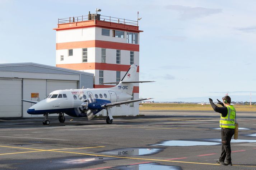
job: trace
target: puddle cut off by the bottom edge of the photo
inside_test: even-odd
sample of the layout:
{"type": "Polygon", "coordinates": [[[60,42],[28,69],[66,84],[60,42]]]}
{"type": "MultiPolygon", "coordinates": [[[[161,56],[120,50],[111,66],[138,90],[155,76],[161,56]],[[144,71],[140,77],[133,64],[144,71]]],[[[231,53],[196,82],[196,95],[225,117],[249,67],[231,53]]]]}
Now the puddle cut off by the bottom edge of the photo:
{"type": "Polygon", "coordinates": [[[167,166],[167,165],[160,165],[157,163],[117,166],[114,168],[120,169],[120,170],[134,170],[134,169],[136,169],[136,170],[148,170],[148,169],[182,170],[180,166],[167,166]]]}

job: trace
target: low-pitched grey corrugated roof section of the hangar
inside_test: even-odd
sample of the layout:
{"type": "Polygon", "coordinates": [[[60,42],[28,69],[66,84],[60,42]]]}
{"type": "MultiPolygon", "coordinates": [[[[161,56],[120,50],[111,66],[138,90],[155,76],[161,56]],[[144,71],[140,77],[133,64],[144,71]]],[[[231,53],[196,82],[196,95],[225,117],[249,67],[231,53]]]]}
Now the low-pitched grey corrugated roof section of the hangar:
{"type": "Polygon", "coordinates": [[[71,75],[84,74],[89,76],[94,75],[89,72],[64,69],[64,68],[55,67],[55,66],[37,64],[33,62],[0,64],[0,71],[34,72],[34,73],[48,73],[48,74],[71,74],[71,75]]]}

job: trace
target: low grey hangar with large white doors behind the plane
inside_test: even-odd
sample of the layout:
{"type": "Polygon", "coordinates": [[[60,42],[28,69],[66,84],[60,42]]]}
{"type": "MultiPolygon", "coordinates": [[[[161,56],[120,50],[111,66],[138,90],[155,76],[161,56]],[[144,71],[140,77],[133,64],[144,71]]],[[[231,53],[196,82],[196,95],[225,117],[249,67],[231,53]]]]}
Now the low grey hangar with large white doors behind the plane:
{"type": "MultiPolygon", "coordinates": [[[[60,89],[93,88],[94,74],[36,63],[0,64],[0,117],[31,117],[27,109],[60,89]]],[[[42,115],[39,115],[42,116],[42,115]]]]}

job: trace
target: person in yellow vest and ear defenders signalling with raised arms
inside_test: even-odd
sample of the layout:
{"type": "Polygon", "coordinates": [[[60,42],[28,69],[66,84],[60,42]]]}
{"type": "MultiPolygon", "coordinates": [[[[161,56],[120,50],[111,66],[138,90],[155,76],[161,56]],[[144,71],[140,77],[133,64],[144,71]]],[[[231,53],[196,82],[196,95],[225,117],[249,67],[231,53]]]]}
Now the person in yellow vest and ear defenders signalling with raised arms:
{"type": "Polygon", "coordinates": [[[232,166],[230,141],[235,132],[236,109],[231,105],[231,98],[228,95],[222,97],[222,100],[223,102],[218,100],[218,104],[223,107],[218,107],[213,103],[213,100],[209,98],[213,110],[221,113],[219,122],[221,127],[222,152],[216,163],[232,166]]]}

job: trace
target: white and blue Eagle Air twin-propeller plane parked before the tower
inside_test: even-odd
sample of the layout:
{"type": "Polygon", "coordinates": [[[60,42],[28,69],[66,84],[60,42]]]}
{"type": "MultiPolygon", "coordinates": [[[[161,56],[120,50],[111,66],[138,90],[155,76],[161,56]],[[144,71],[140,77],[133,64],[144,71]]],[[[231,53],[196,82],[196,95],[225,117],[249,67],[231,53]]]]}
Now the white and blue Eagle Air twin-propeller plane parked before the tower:
{"type": "MultiPolygon", "coordinates": [[[[50,124],[47,120],[48,114],[59,114],[59,121],[65,122],[64,113],[72,117],[87,117],[88,120],[92,119],[93,115],[99,111],[107,110],[107,124],[113,121],[111,107],[128,104],[131,102],[147,100],[137,99],[129,100],[132,98],[132,90],[136,82],[150,82],[150,81],[135,81],[138,65],[131,65],[130,69],[126,72],[125,76],[115,87],[99,88],[99,89],[70,89],[70,90],[56,90],[51,92],[46,99],[42,101],[22,100],[34,103],[27,112],[31,115],[45,116],[43,121],[44,125],[50,124]]],[[[107,84],[107,83],[106,83],[107,84]]]]}

